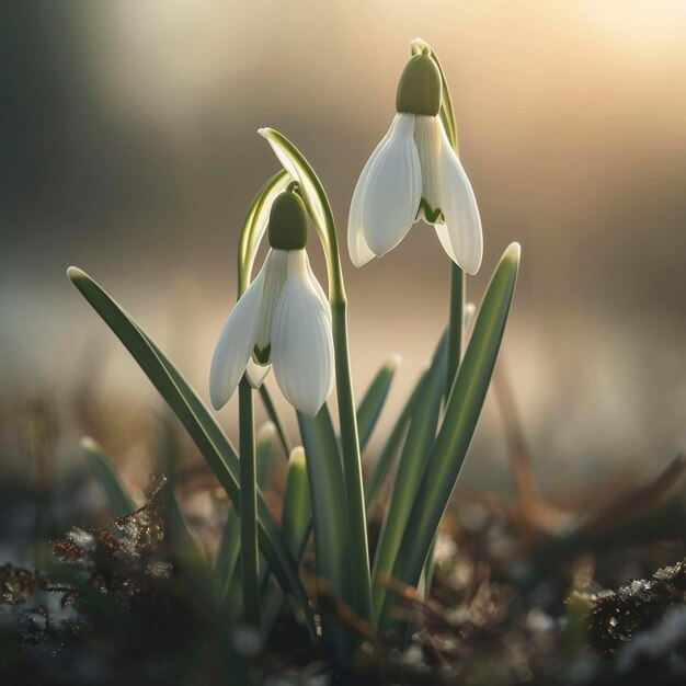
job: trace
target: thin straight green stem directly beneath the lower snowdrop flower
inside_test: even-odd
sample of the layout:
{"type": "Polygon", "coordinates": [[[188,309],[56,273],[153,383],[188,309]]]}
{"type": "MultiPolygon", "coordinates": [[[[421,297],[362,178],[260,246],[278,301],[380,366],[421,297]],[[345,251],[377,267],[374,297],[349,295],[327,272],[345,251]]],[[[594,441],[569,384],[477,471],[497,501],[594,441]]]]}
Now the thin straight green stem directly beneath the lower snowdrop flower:
{"type": "Polygon", "coordinates": [[[241,576],[245,624],[260,628],[258,579],[258,484],[255,477],[255,424],[252,388],[243,377],[238,387],[240,422],[241,576]]]}

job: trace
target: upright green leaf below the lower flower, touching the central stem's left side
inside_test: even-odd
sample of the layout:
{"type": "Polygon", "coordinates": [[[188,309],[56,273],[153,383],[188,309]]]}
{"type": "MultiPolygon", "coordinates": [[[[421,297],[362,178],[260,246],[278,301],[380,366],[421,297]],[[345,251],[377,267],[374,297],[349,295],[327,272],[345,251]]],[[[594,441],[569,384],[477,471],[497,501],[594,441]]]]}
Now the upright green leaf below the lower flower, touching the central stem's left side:
{"type": "MultiPolygon", "coordinates": [[[[316,416],[298,412],[298,425],[305,446],[310,495],[317,578],[330,585],[331,593],[350,604],[351,561],[347,553],[347,512],[343,492],[343,470],[327,403],[316,416]]],[[[345,644],[342,627],[324,621],[324,640],[339,649],[345,644]]]]}

